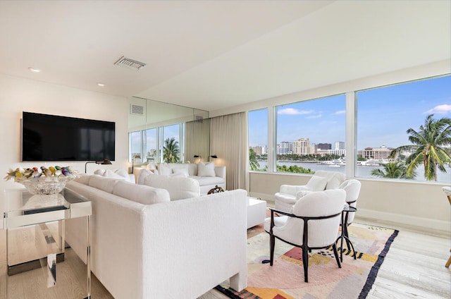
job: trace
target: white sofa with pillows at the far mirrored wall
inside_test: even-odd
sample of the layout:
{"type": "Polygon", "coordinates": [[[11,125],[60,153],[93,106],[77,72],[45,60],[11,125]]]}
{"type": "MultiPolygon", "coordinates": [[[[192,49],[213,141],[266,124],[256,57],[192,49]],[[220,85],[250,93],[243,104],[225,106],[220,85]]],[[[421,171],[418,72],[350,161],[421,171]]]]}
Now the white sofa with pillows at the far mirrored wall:
{"type": "Polygon", "coordinates": [[[148,164],[146,167],[137,167],[135,179],[139,176],[141,169],[149,169],[154,174],[161,176],[187,176],[199,182],[200,194],[206,194],[210,189],[222,187],[226,188],[226,166],[215,166],[214,162],[199,162],[199,164],[190,163],[158,163],[148,164]]]}

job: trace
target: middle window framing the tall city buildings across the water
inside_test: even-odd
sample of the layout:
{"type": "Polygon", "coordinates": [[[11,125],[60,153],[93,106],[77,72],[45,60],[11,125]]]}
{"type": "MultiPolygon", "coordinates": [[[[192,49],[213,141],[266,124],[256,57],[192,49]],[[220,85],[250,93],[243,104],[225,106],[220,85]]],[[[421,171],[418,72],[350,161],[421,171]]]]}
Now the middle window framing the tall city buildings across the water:
{"type": "Polygon", "coordinates": [[[344,173],[345,102],[345,94],[339,94],[277,106],[276,171],[344,173]]]}

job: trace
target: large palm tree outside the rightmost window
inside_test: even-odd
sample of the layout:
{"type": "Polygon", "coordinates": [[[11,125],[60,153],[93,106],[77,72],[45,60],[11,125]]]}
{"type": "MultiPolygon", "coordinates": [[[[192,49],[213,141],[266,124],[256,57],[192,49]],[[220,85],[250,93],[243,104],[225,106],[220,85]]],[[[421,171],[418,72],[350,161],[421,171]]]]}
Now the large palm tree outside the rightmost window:
{"type": "Polygon", "coordinates": [[[412,128],[406,132],[412,145],[397,147],[390,157],[405,150],[414,151],[406,159],[407,174],[412,176],[416,167],[423,164],[424,178],[437,181],[437,169],[446,172],[445,164],[451,162],[451,150],[444,147],[451,145],[451,118],[435,120],[431,114],[426,117],[418,132],[412,128]]]}

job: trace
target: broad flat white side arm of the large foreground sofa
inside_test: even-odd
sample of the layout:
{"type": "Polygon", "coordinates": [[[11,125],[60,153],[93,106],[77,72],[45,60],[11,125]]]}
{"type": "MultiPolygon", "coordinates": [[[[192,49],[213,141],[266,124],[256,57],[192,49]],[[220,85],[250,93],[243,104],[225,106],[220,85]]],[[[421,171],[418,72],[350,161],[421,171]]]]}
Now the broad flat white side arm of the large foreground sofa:
{"type": "Polygon", "coordinates": [[[143,298],[198,298],[228,278],[235,291],[245,288],[246,195],[232,190],[146,207],[143,298]]]}

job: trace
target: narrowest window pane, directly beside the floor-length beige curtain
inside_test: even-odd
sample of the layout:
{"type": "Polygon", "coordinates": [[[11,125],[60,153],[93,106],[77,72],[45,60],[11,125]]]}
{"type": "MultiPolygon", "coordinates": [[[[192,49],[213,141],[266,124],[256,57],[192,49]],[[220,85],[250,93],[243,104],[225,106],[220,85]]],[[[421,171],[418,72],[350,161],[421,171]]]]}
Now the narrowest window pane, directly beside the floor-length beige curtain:
{"type": "Polygon", "coordinates": [[[268,109],[249,111],[249,169],[268,170],[268,109]]]}

